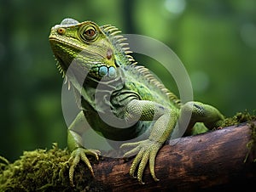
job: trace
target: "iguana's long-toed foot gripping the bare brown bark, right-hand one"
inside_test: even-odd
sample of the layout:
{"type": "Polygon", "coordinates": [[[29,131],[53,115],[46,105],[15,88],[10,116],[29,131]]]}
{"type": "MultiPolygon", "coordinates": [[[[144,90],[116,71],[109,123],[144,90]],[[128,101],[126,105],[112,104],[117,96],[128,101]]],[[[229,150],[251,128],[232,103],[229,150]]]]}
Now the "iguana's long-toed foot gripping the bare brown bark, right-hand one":
{"type": "Polygon", "coordinates": [[[137,178],[140,184],[145,184],[143,183],[143,172],[148,161],[149,171],[152,178],[154,178],[154,181],[159,181],[159,179],[156,178],[154,173],[154,161],[155,156],[157,155],[157,152],[160,150],[161,145],[162,144],[158,142],[147,139],[136,143],[122,144],[120,146],[121,149],[133,148],[132,150],[129,150],[128,152],[125,153],[124,158],[137,154],[137,156],[135,157],[134,161],[131,164],[129,173],[133,178],[137,178]],[[137,177],[134,176],[134,172],[136,172],[136,170],[137,177]]]}

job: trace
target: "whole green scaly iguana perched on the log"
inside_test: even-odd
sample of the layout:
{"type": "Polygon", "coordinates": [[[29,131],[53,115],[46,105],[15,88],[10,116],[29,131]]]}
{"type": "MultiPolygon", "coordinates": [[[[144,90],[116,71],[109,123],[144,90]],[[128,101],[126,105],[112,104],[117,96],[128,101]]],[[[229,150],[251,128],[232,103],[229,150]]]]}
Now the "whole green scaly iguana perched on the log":
{"type": "Polygon", "coordinates": [[[117,141],[137,138],[149,129],[148,138],[119,146],[122,150],[131,149],[125,157],[136,155],[130,175],[135,177],[137,171],[137,180],[144,184],[143,172],[148,162],[152,177],[155,181],[159,180],[154,173],[155,157],[172,135],[174,127],[179,127],[189,113],[188,134],[196,122],[212,129],[224,120],[224,116],[211,105],[194,101],[182,104],[145,67],[136,65],[129,55],[131,52],[122,42],[125,39],[118,33],[112,25],[98,26],[91,21],[79,23],[73,19],[62,20],[50,31],[49,42],[57,65],[63,76],[67,75],[68,85],[78,95],[81,109],[68,127],[67,145],[72,151],[69,178],[72,185],[74,168],[79,161],[84,161],[93,175],[87,155],[94,155],[98,160],[98,150],[83,146],[82,135],[88,127],[105,138],[117,141]],[[74,59],[76,67],[71,71],[75,77],[67,74],[74,59]],[[85,79],[81,82],[81,78],[85,79]],[[120,122],[125,128],[102,121],[101,117],[109,116],[109,113],[123,120],[120,122]]]}

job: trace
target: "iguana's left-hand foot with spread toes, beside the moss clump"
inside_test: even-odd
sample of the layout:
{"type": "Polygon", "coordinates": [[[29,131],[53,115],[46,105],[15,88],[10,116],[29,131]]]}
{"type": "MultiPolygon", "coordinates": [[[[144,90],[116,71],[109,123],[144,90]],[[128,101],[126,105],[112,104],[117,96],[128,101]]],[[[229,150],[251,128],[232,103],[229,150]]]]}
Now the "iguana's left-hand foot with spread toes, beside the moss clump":
{"type": "Polygon", "coordinates": [[[74,173],[75,167],[77,167],[80,160],[84,161],[84,163],[90,170],[90,174],[94,177],[93,169],[92,169],[92,167],[90,165],[90,161],[86,155],[93,155],[96,158],[96,161],[98,161],[99,160],[98,155],[100,155],[100,151],[99,150],[87,150],[87,149],[79,147],[79,148],[73,150],[73,152],[70,155],[70,158],[68,160],[68,162],[71,165],[71,167],[69,168],[69,180],[70,180],[70,184],[72,186],[74,186],[73,173],[74,173]]]}

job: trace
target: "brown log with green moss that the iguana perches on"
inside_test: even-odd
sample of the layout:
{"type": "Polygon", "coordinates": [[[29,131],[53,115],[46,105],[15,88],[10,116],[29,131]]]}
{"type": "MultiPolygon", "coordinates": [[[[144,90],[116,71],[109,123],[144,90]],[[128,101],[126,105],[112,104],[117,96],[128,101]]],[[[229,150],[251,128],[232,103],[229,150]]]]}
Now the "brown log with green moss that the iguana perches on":
{"type": "Polygon", "coordinates": [[[93,164],[95,178],[83,162],[79,163],[73,179],[76,187],[72,188],[68,177],[69,152],[58,149],[56,144],[51,150],[25,151],[12,164],[1,157],[0,191],[244,190],[256,182],[255,124],[173,139],[156,158],[155,172],[160,181],[154,182],[146,167],[145,185],[129,176],[132,161],[102,157],[93,164]]]}

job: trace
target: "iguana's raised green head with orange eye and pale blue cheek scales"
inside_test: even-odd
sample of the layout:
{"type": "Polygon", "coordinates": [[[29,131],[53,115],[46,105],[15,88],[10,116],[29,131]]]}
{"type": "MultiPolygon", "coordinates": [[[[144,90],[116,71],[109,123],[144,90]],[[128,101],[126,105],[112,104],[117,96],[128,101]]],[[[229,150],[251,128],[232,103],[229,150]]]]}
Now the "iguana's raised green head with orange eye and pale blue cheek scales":
{"type": "Polygon", "coordinates": [[[113,44],[106,31],[96,23],[64,19],[51,28],[49,42],[63,76],[74,60],[79,68],[77,71],[84,71],[93,78],[116,76],[113,44]]]}

